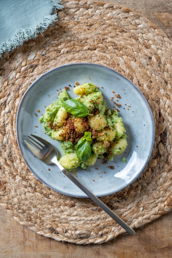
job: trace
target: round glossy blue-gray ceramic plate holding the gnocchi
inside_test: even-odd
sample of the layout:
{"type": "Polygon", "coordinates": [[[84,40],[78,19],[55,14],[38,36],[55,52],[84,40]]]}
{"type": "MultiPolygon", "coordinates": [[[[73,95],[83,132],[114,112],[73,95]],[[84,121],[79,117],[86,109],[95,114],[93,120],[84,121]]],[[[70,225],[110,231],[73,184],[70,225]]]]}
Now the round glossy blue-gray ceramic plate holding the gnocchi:
{"type": "Polygon", "coordinates": [[[140,175],[150,158],[154,143],[154,121],[146,99],[132,82],[113,69],[93,63],[68,64],[48,71],[32,83],[17,112],[16,128],[20,152],[30,171],[43,184],[65,195],[87,197],[60,173],[56,165],[47,165],[38,160],[24,143],[27,135],[37,134],[52,143],[60,155],[63,155],[60,142],[44,134],[39,117],[44,114],[46,106],[58,97],[59,88],[71,85],[68,94],[71,98],[76,97],[73,93],[76,81],[80,84],[93,82],[100,87],[106,104],[111,109],[115,106],[113,101],[116,102],[116,97],[110,100],[114,96],[112,91],[121,97],[118,99],[120,106],[115,107],[120,110],[119,116],[123,118],[128,135],[128,148],[108,164],[103,164],[103,160],[98,159],[95,165],[88,167],[86,171],[80,167],[76,169],[77,179],[96,196],[110,195],[128,186],[140,175]],[[40,110],[39,113],[37,109],[40,110]],[[123,157],[126,158],[126,163],[122,161],[123,157]],[[114,169],[110,166],[114,166],[114,169]]]}

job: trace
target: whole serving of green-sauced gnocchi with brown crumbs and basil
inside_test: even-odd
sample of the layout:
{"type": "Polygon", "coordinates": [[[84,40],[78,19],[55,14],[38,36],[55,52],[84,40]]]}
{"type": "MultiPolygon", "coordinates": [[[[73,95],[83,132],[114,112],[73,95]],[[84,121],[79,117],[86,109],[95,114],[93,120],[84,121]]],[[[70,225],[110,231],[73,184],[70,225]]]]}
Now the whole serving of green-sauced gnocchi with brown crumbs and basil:
{"type": "Polygon", "coordinates": [[[127,148],[122,117],[106,106],[98,87],[84,83],[73,91],[77,97],[70,99],[63,89],[39,118],[45,133],[62,142],[59,163],[70,171],[78,166],[86,169],[97,158],[113,160],[127,148]]]}

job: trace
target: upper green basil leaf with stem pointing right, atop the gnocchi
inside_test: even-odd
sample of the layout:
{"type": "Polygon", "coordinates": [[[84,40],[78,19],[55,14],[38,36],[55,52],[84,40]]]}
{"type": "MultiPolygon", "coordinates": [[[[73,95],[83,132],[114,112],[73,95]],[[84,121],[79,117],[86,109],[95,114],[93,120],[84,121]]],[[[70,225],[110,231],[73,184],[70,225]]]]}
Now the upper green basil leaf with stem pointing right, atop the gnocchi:
{"type": "Polygon", "coordinates": [[[93,116],[89,114],[87,107],[76,99],[68,99],[62,103],[64,109],[66,111],[76,117],[86,117],[87,115],[93,116]]]}

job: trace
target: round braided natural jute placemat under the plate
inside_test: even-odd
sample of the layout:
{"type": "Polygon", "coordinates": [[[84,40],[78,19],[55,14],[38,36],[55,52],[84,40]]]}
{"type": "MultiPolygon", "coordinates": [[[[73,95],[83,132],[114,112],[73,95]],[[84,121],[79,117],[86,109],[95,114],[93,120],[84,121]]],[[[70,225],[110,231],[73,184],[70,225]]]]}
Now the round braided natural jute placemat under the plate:
{"type": "Polygon", "coordinates": [[[141,227],[172,208],[172,43],[146,17],[114,4],[65,2],[58,17],[43,35],[1,60],[0,203],[38,234],[77,244],[103,243],[125,231],[90,199],[59,194],[28,170],[16,140],[17,107],[35,79],[66,63],[100,63],[130,79],[152,110],[155,144],[139,178],[101,200],[132,228],[141,227]]]}

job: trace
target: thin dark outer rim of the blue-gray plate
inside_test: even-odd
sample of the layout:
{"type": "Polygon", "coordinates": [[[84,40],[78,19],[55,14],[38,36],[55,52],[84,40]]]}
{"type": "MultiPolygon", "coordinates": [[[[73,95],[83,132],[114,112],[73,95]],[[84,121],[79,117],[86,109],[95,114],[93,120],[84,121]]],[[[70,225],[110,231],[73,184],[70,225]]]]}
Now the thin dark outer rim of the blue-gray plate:
{"type": "MultiPolygon", "coordinates": [[[[155,141],[155,124],[154,124],[154,118],[153,118],[153,114],[152,114],[152,111],[150,109],[150,106],[148,104],[148,102],[146,101],[146,98],[144,97],[143,93],[138,89],[138,87],[132,82],[130,81],[127,77],[125,77],[123,74],[121,74],[120,72],[114,70],[113,68],[110,68],[108,66],[104,66],[104,65],[101,65],[101,64],[97,64],[97,63],[87,63],[87,62],[81,62],[81,63],[69,63],[69,64],[64,64],[64,65],[61,65],[61,66],[57,66],[53,69],[50,69],[49,71],[45,72],[44,74],[42,74],[41,76],[39,76],[34,82],[31,83],[31,85],[28,87],[28,89],[25,91],[25,93],[23,94],[21,100],[20,100],[20,103],[19,103],[19,106],[18,106],[18,109],[17,109],[17,114],[16,114],[16,136],[17,136],[17,144],[18,144],[18,147],[19,147],[19,150],[20,150],[20,154],[24,160],[24,162],[26,163],[27,167],[29,168],[29,170],[34,174],[34,176],[36,176],[36,178],[42,182],[43,184],[45,184],[47,187],[49,187],[50,189],[54,190],[55,192],[59,192],[60,194],[64,194],[66,196],[70,196],[70,197],[74,197],[74,198],[88,198],[87,195],[84,195],[84,196],[77,196],[77,195],[72,195],[72,194],[66,194],[62,191],[57,191],[56,189],[54,189],[53,187],[50,187],[49,184],[47,184],[46,182],[44,182],[44,180],[40,179],[35,173],[34,171],[32,171],[30,165],[28,164],[28,162],[26,161],[24,155],[23,155],[23,151],[22,151],[22,148],[21,148],[21,145],[20,145],[20,140],[19,140],[19,134],[18,134],[18,119],[19,119],[19,114],[20,114],[20,109],[21,109],[21,105],[23,103],[23,100],[25,99],[28,91],[36,84],[37,81],[39,81],[40,79],[42,79],[44,76],[46,76],[47,74],[55,71],[55,70],[58,70],[60,68],[63,68],[63,67],[66,67],[66,66],[79,66],[79,65],[92,65],[92,66],[100,66],[100,67],[103,67],[104,69],[108,69],[112,72],[114,72],[115,74],[118,74],[120,75],[123,79],[127,80],[135,89],[136,91],[141,95],[144,103],[146,103],[146,106],[149,110],[149,114],[150,114],[150,117],[151,117],[151,122],[152,122],[152,127],[153,127],[153,132],[152,132],[152,146],[151,146],[151,149],[150,149],[150,152],[149,152],[149,155],[143,165],[143,167],[141,168],[141,170],[139,171],[139,173],[132,179],[129,181],[128,184],[125,185],[125,187],[129,186],[130,184],[132,184],[137,178],[138,176],[143,172],[144,168],[146,167],[147,163],[149,162],[149,159],[152,155],[152,150],[153,150],[153,146],[154,146],[154,141],[155,141]]],[[[117,191],[113,191],[113,192],[110,192],[110,193],[107,193],[106,195],[96,195],[97,197],[102,197],[102,196],[107,196],[107,195],[112,195],[116,192],[119,192],[121,191],[122,189],[124,189],[125,187],[122,187],[121,189],[117,190],[117,191]]]]}

